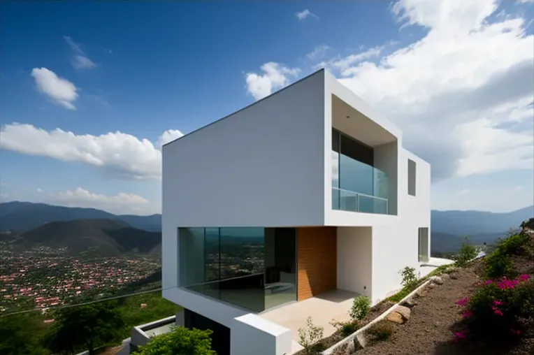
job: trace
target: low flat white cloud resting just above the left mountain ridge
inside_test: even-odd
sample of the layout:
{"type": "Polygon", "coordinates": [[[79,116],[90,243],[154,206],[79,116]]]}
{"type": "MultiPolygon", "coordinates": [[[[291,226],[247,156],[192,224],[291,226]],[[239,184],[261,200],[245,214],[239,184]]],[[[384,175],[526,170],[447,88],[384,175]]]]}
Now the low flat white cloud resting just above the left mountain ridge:
{"type": "Polygon", "coordinates": [[[146,198],[136,194],[120,192],[115,196],[95,194],[78,187],[73,190],[52,192],[43,196],[40,202],[66,207],[97,208],[117,214],[143,214],[150,215],[159,212],[146,198]]]}

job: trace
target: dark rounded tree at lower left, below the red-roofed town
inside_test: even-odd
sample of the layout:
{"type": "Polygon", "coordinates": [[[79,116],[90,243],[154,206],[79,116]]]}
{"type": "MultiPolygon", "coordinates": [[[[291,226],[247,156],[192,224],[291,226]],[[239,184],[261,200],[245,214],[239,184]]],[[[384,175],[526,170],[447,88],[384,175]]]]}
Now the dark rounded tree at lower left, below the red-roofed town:
{"type": "Polygon", "coordinates": [[[62,308],[54,312],[55,322],[48,335],[48,348],[59,354],[94,349],[115,340],[124,326],[115,301],[62,308]]]}

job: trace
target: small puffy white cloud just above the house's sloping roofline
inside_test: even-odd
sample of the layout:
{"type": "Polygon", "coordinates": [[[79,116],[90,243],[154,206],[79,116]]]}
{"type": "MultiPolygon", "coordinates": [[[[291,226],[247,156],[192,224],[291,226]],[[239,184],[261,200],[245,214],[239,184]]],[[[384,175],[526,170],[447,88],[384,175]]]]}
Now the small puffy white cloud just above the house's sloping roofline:
{"type": "Polygon", "coordinates": [[[290,77],[296,77],[300,73],[299,68],[289,68],[282,64],[269,61],[261,66],[264,74],[247,73],[247,91],[254,99],[263,99],[277,89],[289,84],[290,77]]]}

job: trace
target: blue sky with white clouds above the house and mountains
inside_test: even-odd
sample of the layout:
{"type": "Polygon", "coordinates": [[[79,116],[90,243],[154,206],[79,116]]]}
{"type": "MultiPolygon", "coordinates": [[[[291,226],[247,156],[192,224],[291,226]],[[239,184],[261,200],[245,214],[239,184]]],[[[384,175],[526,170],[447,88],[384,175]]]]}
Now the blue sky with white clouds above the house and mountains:
{"type": "Polygon", "coordinates": [[[432,164],[433,208],[531,205],[533,2],[444,2],[2,2],[1,201],[159,212],[162,141],[324,67],[432,164]]]}

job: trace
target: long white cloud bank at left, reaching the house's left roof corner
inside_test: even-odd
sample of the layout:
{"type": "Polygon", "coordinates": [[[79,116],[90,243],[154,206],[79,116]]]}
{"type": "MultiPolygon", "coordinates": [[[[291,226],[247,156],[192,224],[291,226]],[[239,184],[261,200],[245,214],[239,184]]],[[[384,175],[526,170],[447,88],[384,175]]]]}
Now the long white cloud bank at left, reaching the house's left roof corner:
{"type": "MultiPolygon", "coordinates": [[[[111,178],[157,180],[161,178],[161,151],[150,140],[117,131],[92,136],[31,124],[6,124],[0,131],[0,147],[22,154],[73,161],[101,169],[111,178]]],[[[177,130],[164,132],[157,144],[178,138],[177,130]]]]}

